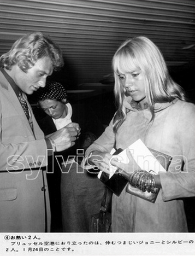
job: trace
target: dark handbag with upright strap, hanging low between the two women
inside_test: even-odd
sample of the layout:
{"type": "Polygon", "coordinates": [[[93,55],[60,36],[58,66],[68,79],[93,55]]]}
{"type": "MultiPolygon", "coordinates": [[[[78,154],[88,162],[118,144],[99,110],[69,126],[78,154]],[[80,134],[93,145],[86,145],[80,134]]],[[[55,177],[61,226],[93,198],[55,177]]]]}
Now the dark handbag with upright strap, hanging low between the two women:
{"type": "Polygon", "coordinates": [[[111,197],[112,191],[105,187],[99,213],[91,216],[90,232],[111,232],[111,197]],[[110,211],[109,211],[110,210],[110,211]]]}

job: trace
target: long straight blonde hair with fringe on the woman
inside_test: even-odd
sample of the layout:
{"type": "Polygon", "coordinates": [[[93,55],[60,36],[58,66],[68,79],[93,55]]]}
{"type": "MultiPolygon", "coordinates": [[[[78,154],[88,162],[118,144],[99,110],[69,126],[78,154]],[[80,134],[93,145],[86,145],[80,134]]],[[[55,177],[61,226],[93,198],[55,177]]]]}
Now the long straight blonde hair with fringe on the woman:
{"type": "Polygon", "coordinates": [[[140,69],[145,78],[145,94],[149,109],[155,118],[155,103],[171,102],[175,98],[187,101],[184,90],[170,77],[164,57],[158,47],[147,37],[134,37],[126,40],[113,57],[115,77],[115,101],[117,111],[114,116],[114,132],[126,118],[123,100],[127,96],[119,74],[140,69]]]}

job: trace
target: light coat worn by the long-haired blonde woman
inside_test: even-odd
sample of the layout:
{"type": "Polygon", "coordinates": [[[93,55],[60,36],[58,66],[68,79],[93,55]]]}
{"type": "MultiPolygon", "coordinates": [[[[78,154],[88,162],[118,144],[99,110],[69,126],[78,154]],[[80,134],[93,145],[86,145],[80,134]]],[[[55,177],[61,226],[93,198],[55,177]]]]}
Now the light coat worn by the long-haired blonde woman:
{"type": "MultiPolygon", "coordinates": [[[[167,173],[161,173],[162,189],[155,203],[140,199],[124,189],[119,197],[113,195],[113,232],[187,232],[182,197],[195,195],[194,174],[194,104],[175,100],[157,103],[155,119],[150,122],[148,108],[138,110],[127,97],[129,109],[126,120],[116,134],[116,148],[125,149],[137,139],[149,148],[174,156],[167,173]],[[184,163],[181,171],[181,162],[184,163]]],[[[110,152],[114,146],[113,120],[97,141],[87,149],[110,152]]]]}

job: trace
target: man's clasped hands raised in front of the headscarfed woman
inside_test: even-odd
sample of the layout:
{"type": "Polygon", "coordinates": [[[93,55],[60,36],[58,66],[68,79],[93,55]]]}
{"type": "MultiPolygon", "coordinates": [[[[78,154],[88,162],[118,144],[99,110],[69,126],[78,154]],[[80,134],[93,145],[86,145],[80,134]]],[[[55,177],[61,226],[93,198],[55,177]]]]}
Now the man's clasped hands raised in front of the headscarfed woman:
{"type": "Polygon", "coordinates": [[[75,140],[80,135],[80,126],[76,123],[70,123],[67,126],[52,133],[48,138],[55,148],[56,152],[66,150],[75,144],[75,140]]]}

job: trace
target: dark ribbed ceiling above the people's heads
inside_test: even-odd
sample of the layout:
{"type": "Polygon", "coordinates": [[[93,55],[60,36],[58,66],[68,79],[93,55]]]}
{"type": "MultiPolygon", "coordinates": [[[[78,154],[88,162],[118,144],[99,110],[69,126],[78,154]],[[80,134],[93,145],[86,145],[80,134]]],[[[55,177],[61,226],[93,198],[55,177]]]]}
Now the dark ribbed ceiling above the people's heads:
{"type": "Polygon", "coordinates": [[[194,63],[194,0],[0,0],[0,54],[23,33],[42,31],[61,46],[77,83],[97,83],[128,37],[144,35],[168,65],[194,63]]]}

